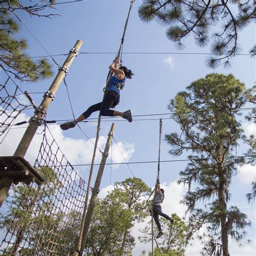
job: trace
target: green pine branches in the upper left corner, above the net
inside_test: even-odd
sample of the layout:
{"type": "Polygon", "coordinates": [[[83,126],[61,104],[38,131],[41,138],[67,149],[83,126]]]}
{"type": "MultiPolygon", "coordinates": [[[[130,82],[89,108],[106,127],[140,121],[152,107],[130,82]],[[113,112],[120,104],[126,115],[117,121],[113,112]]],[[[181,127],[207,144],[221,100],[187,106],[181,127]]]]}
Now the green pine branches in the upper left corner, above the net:
{"type": "Polygon", "coordinates": [[[41,7],[37,5],[31,6],[30,3],[29,6],[24,6],[19,0],[0,2],[0,67],[22,81],[36,82],[52,76],[52,68],[47,60],[45,58],[32,60],[25,53],[28,50],[26,40],[17,37],[22,24],[15,16],[16,10],[24,10],[31,16],[53,16],[41,15],[45,8],[49,8],[48,5],[41,5],[41,7]]]}

